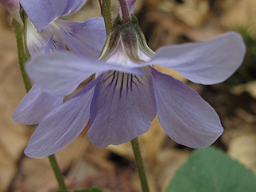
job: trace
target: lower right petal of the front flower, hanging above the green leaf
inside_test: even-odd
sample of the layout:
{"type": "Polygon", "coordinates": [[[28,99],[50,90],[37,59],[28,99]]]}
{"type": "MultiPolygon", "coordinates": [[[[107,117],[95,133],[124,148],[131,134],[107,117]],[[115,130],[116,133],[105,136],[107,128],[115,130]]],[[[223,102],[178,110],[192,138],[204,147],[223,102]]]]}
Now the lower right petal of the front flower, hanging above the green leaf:
{"type": "Polygon", "coordinates": [[[223,132],[215,110],[195,90],[152,69],[157,114],[165,132],[189,148],[204,148],[223,132]]]}

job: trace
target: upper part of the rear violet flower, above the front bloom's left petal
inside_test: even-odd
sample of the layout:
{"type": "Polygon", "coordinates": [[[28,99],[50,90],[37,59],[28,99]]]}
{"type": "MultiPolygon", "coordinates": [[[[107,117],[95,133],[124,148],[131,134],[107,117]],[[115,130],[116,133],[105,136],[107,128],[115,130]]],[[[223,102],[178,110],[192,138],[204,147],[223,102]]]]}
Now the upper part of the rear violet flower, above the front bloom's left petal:
{"type": "Polygon", "coordinates": [[[93,59],[99,57],[106,40],[102,17],[91,18],[83,23],[59,19],[76,13],[87,0],[20,2],[29,16],[26,21],[26,40],[32,56],[66,50],[66,45],[78,55],[93,59]]]}

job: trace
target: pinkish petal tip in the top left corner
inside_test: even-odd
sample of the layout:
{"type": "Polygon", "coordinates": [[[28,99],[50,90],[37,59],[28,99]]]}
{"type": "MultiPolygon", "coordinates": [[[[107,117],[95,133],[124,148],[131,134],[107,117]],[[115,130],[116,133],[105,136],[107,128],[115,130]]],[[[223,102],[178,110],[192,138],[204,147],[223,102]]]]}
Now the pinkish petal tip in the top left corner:
{"type": "Polygon", "coordinates": [[[0,3],[6,8],[6,10],[22,24],[20,16],[20,2],[19,0],[0,0],[0,3]]]}

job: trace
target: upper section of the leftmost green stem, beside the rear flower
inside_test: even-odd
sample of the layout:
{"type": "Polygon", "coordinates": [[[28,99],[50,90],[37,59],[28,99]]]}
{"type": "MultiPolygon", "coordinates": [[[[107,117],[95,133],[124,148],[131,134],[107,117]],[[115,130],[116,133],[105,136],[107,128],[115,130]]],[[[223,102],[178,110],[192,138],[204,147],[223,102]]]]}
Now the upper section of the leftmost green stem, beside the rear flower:
{"type": "Polygon", "coordinates": [[[14,33],[17,41],[17,56],[21,67],[21,75],[25,84],[25,90],[29,92],[31,89],[31,82],[28,75],[25,73],[25,62],[28,60],[24,52],[23,37],[21,25],[14,19],[14,33]]]}

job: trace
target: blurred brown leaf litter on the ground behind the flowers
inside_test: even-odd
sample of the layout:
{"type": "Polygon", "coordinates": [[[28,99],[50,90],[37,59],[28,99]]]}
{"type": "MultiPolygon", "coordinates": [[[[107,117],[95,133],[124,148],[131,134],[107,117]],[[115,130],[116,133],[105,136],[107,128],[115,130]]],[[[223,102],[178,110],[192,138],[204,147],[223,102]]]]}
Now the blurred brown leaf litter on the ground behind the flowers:
{"type": "MultiPolygon", "coordinates": [[[[116,0],[112,8],[115,17],[116,0]]],[[[231,30],[244,37],[247,47],[244,63],[225,83],[197,85],[176,71],[157,69],[188,83],[215,108],[225,131],[213,145],[255,173],[256,1],[138,0],[135,15],[154,51],[167,44],[209,40],[231,30]]],[[[99,2],[88,0],[82,10],[67,19],[85,21],[96,16],[100,16],[99,2]]],[[[23,155],[35,127],[19,125],[11,118],[25,95],[11,24],[12,17],[0,5],[0,191],[57,190],[48,158],[31,159],[23,155]]],[[[150,190],[165,191],[192,149],[166,136],[157,118],[139,140],[150,190]]],[[[130,143],[100,150],[87,140],[85,129],[72,144],[56,153],[56,158],[70,190],[98,186],[104,192],[141,191],[130,143]]]]}

